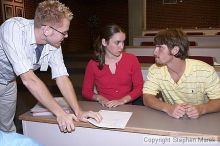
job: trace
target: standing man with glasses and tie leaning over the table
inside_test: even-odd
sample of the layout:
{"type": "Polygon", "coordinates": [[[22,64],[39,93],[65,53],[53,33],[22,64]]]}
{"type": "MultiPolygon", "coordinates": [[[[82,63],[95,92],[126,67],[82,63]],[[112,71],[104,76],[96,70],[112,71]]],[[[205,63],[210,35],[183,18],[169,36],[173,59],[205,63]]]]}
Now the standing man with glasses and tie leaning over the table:
{"type": "Polygon", "coordinates": [[[13,118],[16,109],[16,77],[32,95],[57,117],[60,130],[74,130],[73,120],[98,122],[101,116],[92,111],[82,111],[78,105],[73,85],[68,78],[61,50],[61,42],[68,37],[73,14],[57,0],[39,3],[34,20],[14,17],[0,28],[0,130],[15,131],[13,118]],[[52,79],[74,111],[67,114],[53,99],[45,84],[34,70],[46,71],[51,67],[52,79]]]}

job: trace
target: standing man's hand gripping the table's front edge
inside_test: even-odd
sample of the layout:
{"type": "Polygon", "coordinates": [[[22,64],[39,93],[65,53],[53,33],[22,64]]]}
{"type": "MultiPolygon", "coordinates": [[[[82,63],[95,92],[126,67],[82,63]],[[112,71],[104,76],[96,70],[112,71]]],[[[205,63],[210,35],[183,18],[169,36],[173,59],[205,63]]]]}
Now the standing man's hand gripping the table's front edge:
{"type": "Polygon", "coordinates": [[[74,114],[63,114],[57,116],[57,122],[61,132],[72,132],[75,129],[73,120],[79,121],[74,114]]]}

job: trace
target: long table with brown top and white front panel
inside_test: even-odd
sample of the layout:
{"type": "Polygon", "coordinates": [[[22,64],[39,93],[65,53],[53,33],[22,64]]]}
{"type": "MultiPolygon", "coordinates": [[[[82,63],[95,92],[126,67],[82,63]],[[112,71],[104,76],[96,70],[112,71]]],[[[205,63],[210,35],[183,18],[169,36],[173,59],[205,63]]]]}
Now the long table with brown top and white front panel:
{"type": "MultiPolygon", "coordinates": [[[[80,101],[85,110],[99,111],[97,102],[80,101]]],[[[33,117],[29,112],[20,116],[24,135],[45,146],[194,146],[220,145],[220,113],[208,114],[196,120],[174,119],[145,106],[122,105],[111,110],[133,112],[125,129],[97,128],[76,122],[72,133],[61,133],[55,117],[33,117]]]]}

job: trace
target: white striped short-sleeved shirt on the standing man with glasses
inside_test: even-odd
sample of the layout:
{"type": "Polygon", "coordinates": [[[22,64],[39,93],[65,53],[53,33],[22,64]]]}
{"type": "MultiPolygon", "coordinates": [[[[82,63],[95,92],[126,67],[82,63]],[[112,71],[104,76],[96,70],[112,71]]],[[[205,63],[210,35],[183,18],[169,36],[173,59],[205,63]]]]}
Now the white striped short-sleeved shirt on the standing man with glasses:
{"type": "Polygon", "coordinates": [[[68,75],[61,48],[44,46],[36,60],[34,21],[14,17],[0,27],[0,84],[8,84],[31,69],[46,71],[51,67],[52,79],[68,75]]]}

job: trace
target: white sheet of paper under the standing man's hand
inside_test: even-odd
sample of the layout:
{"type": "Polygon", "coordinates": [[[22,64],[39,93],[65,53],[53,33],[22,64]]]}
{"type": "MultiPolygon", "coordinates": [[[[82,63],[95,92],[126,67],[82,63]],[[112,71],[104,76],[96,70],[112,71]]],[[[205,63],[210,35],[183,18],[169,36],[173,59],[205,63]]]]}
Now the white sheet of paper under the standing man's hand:
{"type": "Polygon", "coordinates": [[[130,119],[132,112],[121,111],[108,111],[100,110],[99,113],[102,116],[102,121],[97,123],[96,120],[89,118],[88,121],[98,127],[105,128],[121,128],[124,129],[128,120],[130,119]]]}

